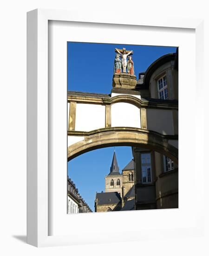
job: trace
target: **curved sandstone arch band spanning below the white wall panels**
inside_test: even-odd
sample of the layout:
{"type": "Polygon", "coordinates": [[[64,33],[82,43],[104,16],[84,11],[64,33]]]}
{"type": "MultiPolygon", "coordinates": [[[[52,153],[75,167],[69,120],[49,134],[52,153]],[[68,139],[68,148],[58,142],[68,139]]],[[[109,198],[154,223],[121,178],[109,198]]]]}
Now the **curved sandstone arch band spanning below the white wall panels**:
{"type": "Polygon", "coordinates": [[[68,147],[68,161],[85,152],[111,146],[135,146],[155,150],[168,156],[178,164],[178,149],[169,141],[178,140],[177,135],[162,135],[160,133],[140,128],[116,127],[103,128],[91,132],[72,132],[70,135],[84,136],[68,147]]]}

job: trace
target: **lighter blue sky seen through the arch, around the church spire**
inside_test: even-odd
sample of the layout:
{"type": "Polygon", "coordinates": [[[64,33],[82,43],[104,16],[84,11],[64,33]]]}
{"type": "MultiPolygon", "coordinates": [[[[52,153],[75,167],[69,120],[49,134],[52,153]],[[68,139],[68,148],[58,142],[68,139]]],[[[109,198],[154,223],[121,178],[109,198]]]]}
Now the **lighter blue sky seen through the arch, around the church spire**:
{"type": "MultiPolygon", "coordinates": [[[[131,147],[115,147],[119,170],[131,161],[131,147]]],[[[96,192],[104,191],[104,176],[110,172],[114,148],[92,150],[68,162],[68,175],[94,211],[96,192]]]]}

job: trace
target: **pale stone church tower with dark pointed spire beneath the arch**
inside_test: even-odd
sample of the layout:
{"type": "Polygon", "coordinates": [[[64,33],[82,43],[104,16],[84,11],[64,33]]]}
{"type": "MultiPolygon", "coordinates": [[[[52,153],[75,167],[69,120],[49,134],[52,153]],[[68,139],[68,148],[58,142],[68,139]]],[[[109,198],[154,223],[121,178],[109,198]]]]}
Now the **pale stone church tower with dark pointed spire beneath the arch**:
{"type": "Polygon", "coordinates": [[[123,175],[119,172],[118,162],[116,158],[116,153],[112,157],[112,164],[110,168],[110,173],[105,176],[105,192],[118,192],[122,197],[123,191],[123,175]]]}

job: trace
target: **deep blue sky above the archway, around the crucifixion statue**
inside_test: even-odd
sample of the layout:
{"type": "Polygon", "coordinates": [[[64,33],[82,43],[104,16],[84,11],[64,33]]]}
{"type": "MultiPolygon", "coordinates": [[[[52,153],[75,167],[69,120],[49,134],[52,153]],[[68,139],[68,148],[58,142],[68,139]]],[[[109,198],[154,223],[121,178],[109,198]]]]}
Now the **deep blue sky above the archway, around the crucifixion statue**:
{"type": "Polygon", "coordinates": [[[176,47],[137,46],[121,44],[67,43],[68,90],[111,93],[115,48],[133,50],[135,74],[146,71],[153,61],[176,47]]]}

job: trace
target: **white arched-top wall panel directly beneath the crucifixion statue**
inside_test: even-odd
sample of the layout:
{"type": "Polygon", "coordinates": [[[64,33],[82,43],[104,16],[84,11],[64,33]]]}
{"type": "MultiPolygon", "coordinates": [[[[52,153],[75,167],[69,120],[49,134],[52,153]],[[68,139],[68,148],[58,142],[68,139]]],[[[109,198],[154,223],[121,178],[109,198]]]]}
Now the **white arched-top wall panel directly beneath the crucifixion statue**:
{"type": "Polygon", "coordinates": [[[124,102],[111,105],[111,126],[141,128],[140,108],[124,102]]]}

